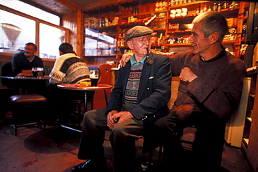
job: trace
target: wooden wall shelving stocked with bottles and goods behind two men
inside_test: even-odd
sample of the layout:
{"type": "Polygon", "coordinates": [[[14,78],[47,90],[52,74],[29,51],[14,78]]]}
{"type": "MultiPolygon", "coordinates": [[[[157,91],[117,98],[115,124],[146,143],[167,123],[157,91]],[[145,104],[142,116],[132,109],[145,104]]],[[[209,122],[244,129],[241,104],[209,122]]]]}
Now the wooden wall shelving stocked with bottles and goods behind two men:
{"type": "MultiPolygon", "coordinates": [[[[85,12],[85,18],[93,17],[98,20],[93,22],[95,28],[90,26],[93,30],[99,34],[105,33],[114,39],[114,42],[107,43],[107,47],[101,47],[97,43],[96,49],[93,50],[95,53],[91,56],[114,56],[116,60],[119,60],[121,55],[128,51],[126,45],[121,45],[123,35],[136,25],[146,25],[153,29],[154,32],[151,36],[153,52],[177,53],[191,49],[188,40],[191,34],[192,19],[206,10],[218,10],[227,18],[230,31],[222,43],[229,52],[240,57],[241,44],[245,40],[242,39],[244,36],[242,34],[243,25],[247,19],[245,11],[248,10],[249,3],[227,2],[227,6],[224,8],[222,6],[224,1],[167,0],[150,3],[146,0],[139,0],[125,1],[107,7],[107,9],[85,12]]],[[[86,38],[89,37],[86,36],[86,38]]],[[[96,40],[103,44],[103,40],[99,36],[96,40]]],[[[85,43],[85,50],[88,46],[87,43],[85,43]]]]}

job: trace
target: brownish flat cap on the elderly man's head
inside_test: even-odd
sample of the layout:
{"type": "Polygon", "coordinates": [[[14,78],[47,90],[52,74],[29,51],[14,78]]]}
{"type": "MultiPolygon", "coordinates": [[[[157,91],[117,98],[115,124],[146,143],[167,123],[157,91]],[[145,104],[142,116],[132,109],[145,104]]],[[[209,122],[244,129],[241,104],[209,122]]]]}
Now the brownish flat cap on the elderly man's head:
{"type": "Polygon", "coordinates": [[[135,38],[139,36],[145,36],[153,33],[153,30],[149,29],[146,26],[134,26],[132,29],[126,32],[126,42],[130,40],[130,38],[135,38]]]}

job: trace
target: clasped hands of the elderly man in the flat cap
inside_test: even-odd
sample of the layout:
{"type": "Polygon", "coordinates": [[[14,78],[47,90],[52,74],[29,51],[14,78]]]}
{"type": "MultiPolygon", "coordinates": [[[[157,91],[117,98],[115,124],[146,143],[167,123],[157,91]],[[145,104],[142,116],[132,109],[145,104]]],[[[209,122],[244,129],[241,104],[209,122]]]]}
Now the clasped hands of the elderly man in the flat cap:
{"type": "Polygon", "coordinates": [[[122,123],[130,118],[133,118],[133,116],[129,111],[109,111],[107,114],[107,127],[112,130],[118,123],[122,123]]]}

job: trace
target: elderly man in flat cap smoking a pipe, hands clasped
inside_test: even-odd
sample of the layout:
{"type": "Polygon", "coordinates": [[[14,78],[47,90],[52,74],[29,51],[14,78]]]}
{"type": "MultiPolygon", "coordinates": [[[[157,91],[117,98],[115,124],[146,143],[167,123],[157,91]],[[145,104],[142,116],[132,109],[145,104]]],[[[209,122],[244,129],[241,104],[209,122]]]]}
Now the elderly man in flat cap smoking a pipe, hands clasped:
{"type": "Polygon", "coordinates": [[[168,111],[171,95],[169,58],[150,53],[152,32],[146,26],[135,26],[126,33],[127,45],[134,54],[119,69],[107,107],[84,114],[77,157],[87,161],[72,171],[106,171],[105,130],[111,130],[113,171],[142,171],[136,162],[135,140],[144,136],[144,152],[153,148],[149,144],[153,123],[168,111]]]}

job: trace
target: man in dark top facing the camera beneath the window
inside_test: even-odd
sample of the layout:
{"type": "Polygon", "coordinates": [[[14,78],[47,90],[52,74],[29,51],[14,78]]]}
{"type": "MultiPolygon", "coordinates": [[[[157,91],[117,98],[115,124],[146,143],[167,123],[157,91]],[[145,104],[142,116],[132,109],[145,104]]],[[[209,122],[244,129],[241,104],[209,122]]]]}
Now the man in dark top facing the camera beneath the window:
{"type": "Polygon", "coordinates": [[[11,60],[13,75],[31,76],[32,67],[44,68],[43,61],[36,55],[38,47],[29,42],[25,44],[23,52],[14,54],[11,60]]]}

